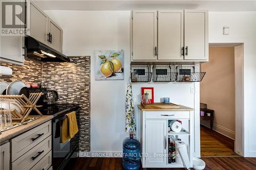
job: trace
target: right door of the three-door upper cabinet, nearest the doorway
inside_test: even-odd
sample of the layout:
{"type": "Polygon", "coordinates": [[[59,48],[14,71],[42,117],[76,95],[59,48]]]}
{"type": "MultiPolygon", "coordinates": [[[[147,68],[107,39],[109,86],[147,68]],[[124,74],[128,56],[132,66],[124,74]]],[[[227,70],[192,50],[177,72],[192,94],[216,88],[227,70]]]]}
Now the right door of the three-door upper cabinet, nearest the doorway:
{"type": "Polygon", "coordinates": [[[208,12],[184,10],[185,60],[208,60],[208,12]]]}

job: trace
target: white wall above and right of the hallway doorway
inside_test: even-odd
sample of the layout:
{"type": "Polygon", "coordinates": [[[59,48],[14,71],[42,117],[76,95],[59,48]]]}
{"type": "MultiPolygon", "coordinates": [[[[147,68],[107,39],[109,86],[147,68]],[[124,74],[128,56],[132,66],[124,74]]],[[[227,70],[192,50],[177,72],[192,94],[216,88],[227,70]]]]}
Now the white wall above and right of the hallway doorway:
{"type": "Polygon", "coordinates": [[[256,157],[256,12],[209,12],[209,43],[227,42],[244,43],[244,156],[256,157]]]}

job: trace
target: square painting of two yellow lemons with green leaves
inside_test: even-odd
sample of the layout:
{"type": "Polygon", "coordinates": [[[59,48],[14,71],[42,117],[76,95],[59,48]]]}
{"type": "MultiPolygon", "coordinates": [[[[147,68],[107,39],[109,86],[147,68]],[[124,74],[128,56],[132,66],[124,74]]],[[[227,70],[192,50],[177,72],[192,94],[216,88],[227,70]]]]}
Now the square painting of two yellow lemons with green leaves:
{"type": "Polygon", "coordinates": [[[95,51],[95,80],[123,80],[123,51],[95,51]]]}

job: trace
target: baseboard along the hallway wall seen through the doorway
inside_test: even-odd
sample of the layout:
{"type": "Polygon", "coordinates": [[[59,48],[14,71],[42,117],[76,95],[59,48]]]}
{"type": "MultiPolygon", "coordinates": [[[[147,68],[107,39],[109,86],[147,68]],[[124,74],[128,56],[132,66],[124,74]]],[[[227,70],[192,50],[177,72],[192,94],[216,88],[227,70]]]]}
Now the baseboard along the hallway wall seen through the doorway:
{"type": "MultiPolygon", "coordinates": [[[[210,128],[210,122],[207,121],[207,120],[201,120],[201,124],[203,126],[206,126],[207,128],[210,128]]],[[[214,123],[214,125],[212,126],[212,130],[232,139],[232,140],[235,140],[236,138],[236,133],[234,131],[231,131],[225,127],[222,127],[220,125],[217,125],[214,123]]]]}

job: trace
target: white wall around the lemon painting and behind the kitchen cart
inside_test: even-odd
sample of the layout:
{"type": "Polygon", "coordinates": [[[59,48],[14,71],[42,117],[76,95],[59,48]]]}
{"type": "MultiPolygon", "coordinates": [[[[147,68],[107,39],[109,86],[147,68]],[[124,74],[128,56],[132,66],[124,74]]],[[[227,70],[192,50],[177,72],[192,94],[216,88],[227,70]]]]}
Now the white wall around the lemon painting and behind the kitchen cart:
{"type": "MultiPolygon", "coordinates": [[[[45,11],[63,29],[63,53],[91,56],[91,151],[122,151],[125,91],[130,72],[130,11],[45,11]],[[124,50],[125,80],[95,81],[94,51],[124,50]]],[[[155,87],[155,101],[194,108],[194,83],[133,83],[135,103],[141,87],[155,87]]],[[[198,90],[199,91],[199,90],[198,90]]],[[[199,96],[199,94],[198,94],[199,96]]],[[[138,110],[136,107],[136,114],[138,110]]],[[[197,148],[200,149],[199,143],[197,148]]]]}

